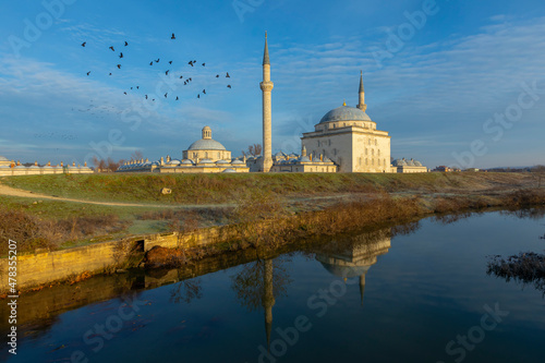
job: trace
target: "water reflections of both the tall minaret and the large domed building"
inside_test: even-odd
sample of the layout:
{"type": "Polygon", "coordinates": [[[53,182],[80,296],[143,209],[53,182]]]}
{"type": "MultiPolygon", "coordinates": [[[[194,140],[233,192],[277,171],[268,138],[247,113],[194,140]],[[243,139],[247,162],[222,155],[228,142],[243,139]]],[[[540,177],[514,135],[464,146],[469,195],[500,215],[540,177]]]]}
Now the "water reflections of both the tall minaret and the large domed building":
{"type": "MultiPolygon", "coordinates": [[[[348,279],[359,279],[363,306],[365,276],[371,266],[377,263],[377,257],[388,253],[390,241],[390,229],[383,229],[356,237],[335,239],[319,244],[310,252],[336,278],[344,282],[348,279]]],[[[272,307],[276,299],[286,297],[287,287],[292,282],[287,269],[289,262],[286,256],[258,259],[246,264],[240,273],[231,276],[232,289],[239,303],[250,312],[263,307],[267,346],[270,344],[272,307]]]]}

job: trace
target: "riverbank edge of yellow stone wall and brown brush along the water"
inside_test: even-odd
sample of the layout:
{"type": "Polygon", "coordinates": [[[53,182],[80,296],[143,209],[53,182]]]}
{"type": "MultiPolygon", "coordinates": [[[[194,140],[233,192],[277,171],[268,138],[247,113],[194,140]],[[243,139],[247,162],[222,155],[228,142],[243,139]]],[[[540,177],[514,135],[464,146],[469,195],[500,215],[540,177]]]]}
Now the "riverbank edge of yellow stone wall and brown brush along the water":
{"type": "MultiPolygon", "coordinates": [[[[495,196],[431,194],[407,197],[380,193],[289,215],[274,201],[251,198],[233,210],[232,218],[237,222],[222,227],[187,229],[179,225],[172,233],[23,255],[20,267],[32,274],[26,280],[21,279],[20,287],[28,290],[53,281],[73,282],[77,276],[136,267],[142,261],[146,268],[180,267],[230,252],[276,250],[313,238],[408,223],[431,215],[443,217],[492,207],[518,209],[538,205],[545,205],[545,190],[519,190],[495,196]]],[[[5,261],[0,262],[2,270],[7,270],[5,261]]],[[[7,289],[8,283],[2,279],[0,291],[7,289]]]]}

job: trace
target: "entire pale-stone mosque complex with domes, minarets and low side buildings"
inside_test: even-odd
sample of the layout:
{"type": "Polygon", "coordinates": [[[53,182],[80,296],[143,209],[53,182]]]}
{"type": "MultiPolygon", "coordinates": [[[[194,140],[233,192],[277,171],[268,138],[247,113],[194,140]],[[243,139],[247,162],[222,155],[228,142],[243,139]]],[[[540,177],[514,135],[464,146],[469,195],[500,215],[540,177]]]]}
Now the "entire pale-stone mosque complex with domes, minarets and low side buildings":
{"type": "MultiPolygon", "coordinates": [[[[301,154],[272,155],[271,149],[271,93],[270,58],[267,34],[263,55],[263,155],[258,157],[232,158],[231,152],[211,137],[211,129],[204,126],[202,138],[183,150],[180,159],[170,156],[157,161],[132,160],[122,165],[119,172],[160,173],[214,173],[214,172],[427,172],[427,168],[413,159],[391,162],[390,138],[387,131],[377,130],[377,124],[366,113],[363,74],[360,74],[359,104],[327,112],[315,124],[314,131],[303,133],[301,154]]],[[[81,166],[34,166],[10,161],[0,156],[0,176],[90,173],[81,166]]]]}

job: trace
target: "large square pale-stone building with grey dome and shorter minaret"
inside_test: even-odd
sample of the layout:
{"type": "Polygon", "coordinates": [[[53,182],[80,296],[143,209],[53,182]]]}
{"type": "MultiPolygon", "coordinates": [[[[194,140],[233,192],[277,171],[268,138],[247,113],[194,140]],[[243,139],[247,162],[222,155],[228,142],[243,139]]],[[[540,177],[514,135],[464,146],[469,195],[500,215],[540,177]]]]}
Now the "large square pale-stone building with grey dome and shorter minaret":
{"type": "Polygon", "coordinates": [[[360,104],[327,112],[314,132],[303,133],[303,146],[313,158],[328,158],[339,172],[396,172],[390,165],[390,137],[379,131],[365,112],[363,75],[360,76],[360,104]]]}

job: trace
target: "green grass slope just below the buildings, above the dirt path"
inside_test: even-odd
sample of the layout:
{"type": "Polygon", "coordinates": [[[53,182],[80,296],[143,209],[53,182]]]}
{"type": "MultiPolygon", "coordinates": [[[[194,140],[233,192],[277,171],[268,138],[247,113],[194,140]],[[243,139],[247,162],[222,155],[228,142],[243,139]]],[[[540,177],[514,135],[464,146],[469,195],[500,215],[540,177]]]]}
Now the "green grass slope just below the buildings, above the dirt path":
{"type": "Polygon", "coordinates": [[[244,173],[244,174],[59,174],[5,177],[0,182],[27,191],[97,202],[138,204],[233,203],[268,191],[277,197],[347,193],[441,192],[528,183],[523,173],[244,173]],[[172,194],[162,195],[168,187],[172,194]]]}

